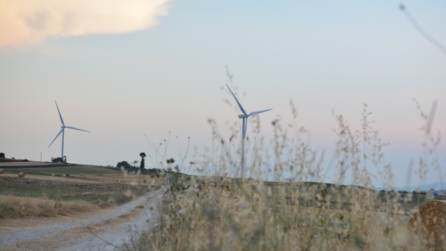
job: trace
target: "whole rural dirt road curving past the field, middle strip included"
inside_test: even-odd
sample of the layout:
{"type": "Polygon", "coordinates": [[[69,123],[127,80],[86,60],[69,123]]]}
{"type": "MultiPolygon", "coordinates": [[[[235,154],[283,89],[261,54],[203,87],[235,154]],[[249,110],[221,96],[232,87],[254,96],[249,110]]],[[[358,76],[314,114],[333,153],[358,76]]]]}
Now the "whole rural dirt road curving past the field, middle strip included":
{"type": "Polygon", "coordinates": [[[164,188],[90,219],[0,232],[1,250],[121,250],[156,224],[164,188]]]}

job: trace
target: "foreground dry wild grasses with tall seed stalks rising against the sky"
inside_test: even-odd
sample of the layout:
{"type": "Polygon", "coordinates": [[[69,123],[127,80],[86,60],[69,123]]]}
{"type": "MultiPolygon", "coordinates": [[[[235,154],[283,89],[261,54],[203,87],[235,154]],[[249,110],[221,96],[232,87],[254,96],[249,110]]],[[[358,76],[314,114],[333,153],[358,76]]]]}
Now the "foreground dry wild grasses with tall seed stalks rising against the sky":
{"type": "MultiPolygon", "coordinates": [[[[293,105],[292,114],[296,119],[293,105]]],[[[135,249],[426,250],[427,237],[410,232],[408,217],[416,206],[434,195],[372,190],[373,178],[392,187],[393,174],[390,164],[384,162],[382,149],[386,143],[373,130],[366,106],[362,115],[360,130],[352,130],[341,115],[334,115],[338,141],[329,167],[337,169],[338,176],[331,178],[336,178],[335,184],[304,182],[326,178],[321,167],[324,154],[310,149],[301,139],[305,129],[296,123],[283,128],[279,118],[274,121],[274,139],[270,142],[274,156],[260,154],[263,138],[259,121],[253,117],[250,137],[255,140],[248,141],[247,146],[253,156],[248,170],[253,178],[225,178],[239,169],[239,156],[231,152],[231,147],[237,145],[223,139],[210,120],[215,139],[212,157],[204,156],[204,160],[194,163],[200,163],[195,166],[198,171],[213,169],[220,177],[172,175],[160,208],[159,225],[145,232],[135,249]],[[296,136],[290,136],[287,130],[295,130],[296,136]],[[265,169],[260,167],[266,166],[272,167],[268,174],[282,182],[261,181],[265,169]],[[379,170],[379,177],[372,176],[369,169],[379,170]],[[285,176],[294,179],[283,182],[285,176]],[[352,180],[354,185],[341,185],[346,180],[352,180]]],[[[423,112],[421,117],[426,133],[423,147],[432,154],[439,139],[430,135],[432,119],[423,112]]],[[[238,125],[231,128],[233,135],[239,134],[238,125]]],[[[421,158],[417,172],[420,180],[428,169],[439,169],[438,159],[428,166],[426,157],[434,158],[421,158]]],[[[444,230],[446,212],[436,213],[443,215],[434,218],[442,221],[444,230]]],[[[428,248],[441,248],[442,244],[437,244],[434,241],[428,248]]]]}

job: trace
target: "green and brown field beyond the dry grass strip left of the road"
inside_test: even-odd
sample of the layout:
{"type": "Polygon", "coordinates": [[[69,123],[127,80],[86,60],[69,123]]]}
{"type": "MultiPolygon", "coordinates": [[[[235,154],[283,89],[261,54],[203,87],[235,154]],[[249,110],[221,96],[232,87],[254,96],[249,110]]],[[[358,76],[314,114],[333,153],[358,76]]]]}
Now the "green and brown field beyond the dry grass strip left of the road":
{"type": "MultiPolygon", "coordinates": [[[[40,167],[39,164],[0,163],[0,169],[5,171],[0,175],[1,198],[86,202],[89,204],[89,210],[94,211],[95,208],[108,208],[129,202],[132,198],[137,198],[148,190],[154,189],[159,183],[157,178],[151,178],[148,175],[136,176],[134,172],[123,173],[120,169],[89,165],[40,167]],[[13,168],[8,168],[11,166],[13,168]],[[18,177],[21,171],[25,172],[25,178],[18,177]],[[63,174],[68,176],[63,177],[63,174]]],[[[48,165],[48,163],[42,165],[48,165]]],[[[16,202],[18,203],[19,200],[16,202]]],[[[0,219],[33,216],[33,213],[25,212],[26,210],[19,204],[8,205],[5,200],[0,200],[0,204],[0,219]]],[[[40,215],[38,210],[33,210],[33,212],[34,216],[40,215]]]]}

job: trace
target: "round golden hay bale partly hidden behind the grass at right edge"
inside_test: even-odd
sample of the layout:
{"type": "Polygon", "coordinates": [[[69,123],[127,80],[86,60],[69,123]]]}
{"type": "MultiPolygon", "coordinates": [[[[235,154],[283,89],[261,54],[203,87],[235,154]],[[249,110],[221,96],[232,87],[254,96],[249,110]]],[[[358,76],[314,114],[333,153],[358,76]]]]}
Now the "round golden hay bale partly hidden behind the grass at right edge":
{"type": "Polygon", "coordinates": [[[446,204],[429,200],[421,204],[408,222],[411,234],[426,250],[446,250],[446,204]]]}

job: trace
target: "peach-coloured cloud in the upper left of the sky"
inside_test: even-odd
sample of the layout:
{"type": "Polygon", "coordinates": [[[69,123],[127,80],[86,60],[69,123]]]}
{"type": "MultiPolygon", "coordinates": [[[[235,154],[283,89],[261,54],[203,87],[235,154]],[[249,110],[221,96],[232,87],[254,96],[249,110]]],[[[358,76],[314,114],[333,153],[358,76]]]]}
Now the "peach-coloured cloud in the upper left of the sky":
{"type": "Polygon", "coordinates": [[[47,36],[117,34],[147,29],[169,0],[0,0],[0,47],[27,47],[47,36]]]}

